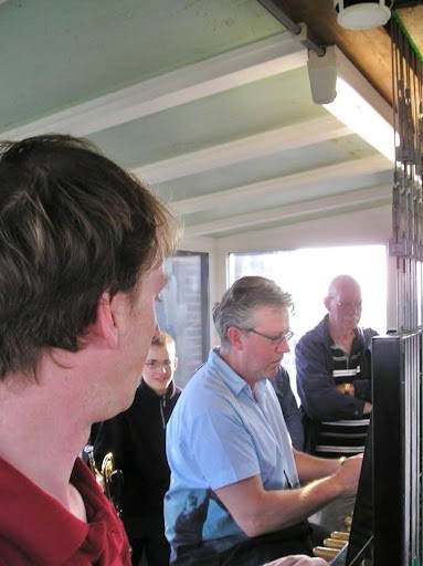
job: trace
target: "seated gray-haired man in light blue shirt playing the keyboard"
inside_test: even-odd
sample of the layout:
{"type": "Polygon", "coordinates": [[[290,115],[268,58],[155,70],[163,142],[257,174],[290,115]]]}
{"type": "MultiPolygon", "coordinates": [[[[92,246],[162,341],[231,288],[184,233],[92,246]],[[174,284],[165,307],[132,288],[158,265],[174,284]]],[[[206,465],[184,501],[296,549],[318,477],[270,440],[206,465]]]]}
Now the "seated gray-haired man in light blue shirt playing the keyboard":
{"type": "Polygon", "coordinates": [[[289,350],[292,306],[273,281],[247,276],[214,307],[221,345],[182,391],[167,430],[172,565],[262,566],[310,554],[306,517],[356,492],[361,458],[342,465],[294,450],[266,379],[289,350]]]}

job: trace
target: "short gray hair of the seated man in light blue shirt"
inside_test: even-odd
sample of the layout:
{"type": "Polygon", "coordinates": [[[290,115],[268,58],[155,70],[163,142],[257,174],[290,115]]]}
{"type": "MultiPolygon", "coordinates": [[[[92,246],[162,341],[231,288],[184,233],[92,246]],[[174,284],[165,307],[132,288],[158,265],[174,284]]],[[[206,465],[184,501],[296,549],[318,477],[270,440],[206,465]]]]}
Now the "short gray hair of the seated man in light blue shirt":
{"type": "Polygon", "coordinates": [[[292,311],[292,295],[283,291],[274,281],[248,275],[241,277],[224,293],[213,307],[213,322],[222,346],[229,346],[228,328],[251,328],[254,315],[261,306],[276,306],[292,311]]]}

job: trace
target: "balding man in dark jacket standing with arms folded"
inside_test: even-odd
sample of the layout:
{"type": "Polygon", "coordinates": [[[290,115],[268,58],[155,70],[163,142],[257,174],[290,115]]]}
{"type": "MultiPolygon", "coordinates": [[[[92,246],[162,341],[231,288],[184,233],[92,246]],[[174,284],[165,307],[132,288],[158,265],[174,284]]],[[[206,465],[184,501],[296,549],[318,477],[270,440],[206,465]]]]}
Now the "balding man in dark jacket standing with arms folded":
{"type": "MultiPolygon", "coordinates": [[[[371,328],[359,328],[362,300],[357,281],[338,275],[324,300],[328,314],[295,350],[298,395],[305,412],[307,451],[345,458],[364,450],[371,412],[371,328]]],[[[353,499],[337,501],[314,520],[334,531],[343,525],[353,499]]]]}

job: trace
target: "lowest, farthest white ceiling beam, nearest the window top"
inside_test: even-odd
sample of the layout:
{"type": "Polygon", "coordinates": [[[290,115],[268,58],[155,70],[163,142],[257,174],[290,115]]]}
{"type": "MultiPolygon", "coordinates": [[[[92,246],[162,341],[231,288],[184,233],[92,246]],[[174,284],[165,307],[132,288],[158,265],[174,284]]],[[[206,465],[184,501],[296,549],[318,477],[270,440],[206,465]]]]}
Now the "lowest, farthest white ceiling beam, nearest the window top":
{"type": "Polygon", "coordinates": [[[197,238],[222,234],[242,229],[254,230],[272,222],[306,221],[310,218],[341,214],[346,211],[376,208],[392,202],[390,185],[378,185],[366,189],[349,191],[321,199],[307,200],[258,212],[186,227],[183,238],[197,238]]]}

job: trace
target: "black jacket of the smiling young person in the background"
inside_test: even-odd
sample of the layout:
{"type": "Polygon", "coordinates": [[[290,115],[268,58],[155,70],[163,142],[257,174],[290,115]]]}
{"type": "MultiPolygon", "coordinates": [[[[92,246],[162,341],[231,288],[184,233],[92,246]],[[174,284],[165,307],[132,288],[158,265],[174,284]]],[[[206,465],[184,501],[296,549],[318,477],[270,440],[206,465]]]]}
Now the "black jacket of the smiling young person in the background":
{"type": "Polygon", "coordinates": [[[116,468],[124,472],[121,507],[128,531],[133,531],[131,525],[139,524],[142,516],[162,516],[163,496],[170,481],[166,424],[179,395],[173,381],[162,397],[141,381],[129,409],[104,421],[95,439],[97,468],[101,469],[104,455],[110,451],[116,468]]]}

